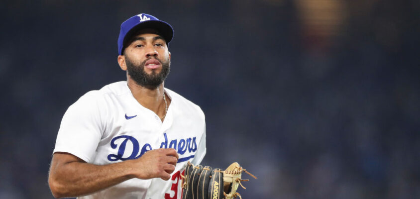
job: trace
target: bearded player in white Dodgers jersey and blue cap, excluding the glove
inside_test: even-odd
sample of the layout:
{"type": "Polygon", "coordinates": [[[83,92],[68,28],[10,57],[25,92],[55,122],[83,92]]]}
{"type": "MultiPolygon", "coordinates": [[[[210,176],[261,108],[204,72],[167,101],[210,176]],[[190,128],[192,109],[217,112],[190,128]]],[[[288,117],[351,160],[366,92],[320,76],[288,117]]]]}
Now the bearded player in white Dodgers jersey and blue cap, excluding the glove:
{"type": "Polygon", "coordinates": [[[181,199],[188,161],[206,154],[204,113],[164,88],[172,26],[149,14],[121,24],[127,81],[91,91],[63,116],[49,174],[55,198],[181,199]]]}

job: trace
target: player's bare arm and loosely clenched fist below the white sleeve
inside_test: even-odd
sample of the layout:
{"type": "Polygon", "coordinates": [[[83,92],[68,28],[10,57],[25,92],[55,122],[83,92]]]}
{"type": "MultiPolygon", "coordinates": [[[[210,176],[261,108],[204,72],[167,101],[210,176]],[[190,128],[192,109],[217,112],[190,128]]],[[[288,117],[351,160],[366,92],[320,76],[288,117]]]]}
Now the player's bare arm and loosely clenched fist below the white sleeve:
{"type": "Polygon", "coordinates": [[[55,198],[93,194],[126,180],[161,178],[169,180],[175,170],[175,149],[155,149],[138,159],[94,165],[69,153],[54,153],[48,183],[55,198]]]}

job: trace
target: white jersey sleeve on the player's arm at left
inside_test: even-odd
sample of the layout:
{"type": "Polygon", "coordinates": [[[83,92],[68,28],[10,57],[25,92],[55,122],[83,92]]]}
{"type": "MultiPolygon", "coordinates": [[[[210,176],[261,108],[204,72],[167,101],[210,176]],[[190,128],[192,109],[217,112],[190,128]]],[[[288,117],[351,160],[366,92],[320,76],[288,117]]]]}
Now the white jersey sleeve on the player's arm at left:
{"type": "Polygon", "coordinates": [[[66,152],[91,162],[103,134],[99,99],[88,93],[66,111],[54,152],[66,152]]]}

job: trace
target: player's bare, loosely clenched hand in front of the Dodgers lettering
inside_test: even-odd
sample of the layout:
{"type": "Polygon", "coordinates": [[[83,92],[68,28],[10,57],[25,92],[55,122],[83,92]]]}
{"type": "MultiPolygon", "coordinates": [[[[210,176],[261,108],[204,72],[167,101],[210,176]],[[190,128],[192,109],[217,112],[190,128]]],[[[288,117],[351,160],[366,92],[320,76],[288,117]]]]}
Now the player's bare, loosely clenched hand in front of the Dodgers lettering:
{"type": "Polygon", "coordinates": [[[161,178],[169,180],[178,162],[175,149],[155,149],[133,161],[134,177],[139,179],[161,178]]]}

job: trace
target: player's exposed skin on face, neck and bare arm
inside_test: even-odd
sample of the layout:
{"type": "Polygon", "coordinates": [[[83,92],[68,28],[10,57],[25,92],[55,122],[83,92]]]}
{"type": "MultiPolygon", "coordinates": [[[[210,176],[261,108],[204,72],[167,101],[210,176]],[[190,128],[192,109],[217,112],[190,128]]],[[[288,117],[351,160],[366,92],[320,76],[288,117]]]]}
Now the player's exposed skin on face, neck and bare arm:
{"type": "MultiPolygon", "coordinates": [[[[124,55],[118,56],[117,61],[122,70],[127,70],[126,56],[136,64],[150,58],[171,58],[165,40],[156,31],[141,30],[135,38],[141,39],[131,42],[125,48],[124,55]]],[[[147,74],[151,74],[153,70],[159,73],[162,67],[150,69],[145,66],[144,70],[147,74]]],[[[147,89],[136,84],[127,73],[127,85],[141,105],[154,111],[159,117],[165,115],[164,83],[156,89],[147,89]]],[[[169,106],[171,100],[168,96],[166,99],[169,106]]],[[[133,178],[169,180],[177,161],[178,154],[172,148],[151,150],[138,159],[108,165],[94,165],[72,154],[56,152],[52,158],[48,184],[55,198],[85,196],[133,178]]]]}

